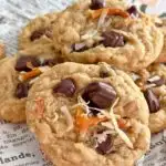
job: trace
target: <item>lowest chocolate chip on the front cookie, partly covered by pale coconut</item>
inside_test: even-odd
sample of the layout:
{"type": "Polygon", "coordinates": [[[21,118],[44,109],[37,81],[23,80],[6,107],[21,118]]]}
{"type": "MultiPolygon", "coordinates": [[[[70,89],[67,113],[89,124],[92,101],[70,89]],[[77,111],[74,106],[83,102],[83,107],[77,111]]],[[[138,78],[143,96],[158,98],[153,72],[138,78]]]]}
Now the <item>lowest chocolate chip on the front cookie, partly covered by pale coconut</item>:
{"type": "Polygon", "coordinates": [[[105,141],[102,143],[97,142],[96,152],[101,155],[110,154],[112,151],[113,141],[111,134],[106,134],[105,141]]]}

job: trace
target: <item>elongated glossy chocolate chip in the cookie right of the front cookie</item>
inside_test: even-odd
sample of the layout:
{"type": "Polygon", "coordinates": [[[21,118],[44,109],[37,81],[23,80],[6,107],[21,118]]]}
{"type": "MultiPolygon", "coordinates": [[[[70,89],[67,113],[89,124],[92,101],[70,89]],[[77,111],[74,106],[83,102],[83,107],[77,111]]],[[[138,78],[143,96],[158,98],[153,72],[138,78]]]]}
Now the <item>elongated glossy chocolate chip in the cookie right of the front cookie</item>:
{"type": "Polygon", "coordinates": [[[144,96],[147,101],[149,112],[156,113],[160,107],[157,96],[152,92],[152,90],[146,90],[144,92],[144,96]]]}

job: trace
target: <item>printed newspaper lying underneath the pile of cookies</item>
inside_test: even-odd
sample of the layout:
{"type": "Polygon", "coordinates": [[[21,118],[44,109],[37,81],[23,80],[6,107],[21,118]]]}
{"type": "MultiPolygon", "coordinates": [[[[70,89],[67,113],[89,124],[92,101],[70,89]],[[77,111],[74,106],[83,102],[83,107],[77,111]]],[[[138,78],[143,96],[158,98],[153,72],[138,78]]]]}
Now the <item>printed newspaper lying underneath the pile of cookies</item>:
{"type": "MultiPolygon", "coordinates": [[[[0,0],[0,39],[7,45],[7,54],[12,55],[17,52],[17,35],[30,19],[46,12],[60,11],[72,1],[0,0]]],[[[165,11],[166,0],[160,0],[156,4],[147,8],[147,11],[154,13],[165,11]]],[[[151,151],[136,165],[166,166],[166,132],[153,135],[151,151]]],[[[52,166],[52,164],[44,159],[34,135],[29,132],[25,124],[13,125],[0,121],[0,166],[52,166]]]]}

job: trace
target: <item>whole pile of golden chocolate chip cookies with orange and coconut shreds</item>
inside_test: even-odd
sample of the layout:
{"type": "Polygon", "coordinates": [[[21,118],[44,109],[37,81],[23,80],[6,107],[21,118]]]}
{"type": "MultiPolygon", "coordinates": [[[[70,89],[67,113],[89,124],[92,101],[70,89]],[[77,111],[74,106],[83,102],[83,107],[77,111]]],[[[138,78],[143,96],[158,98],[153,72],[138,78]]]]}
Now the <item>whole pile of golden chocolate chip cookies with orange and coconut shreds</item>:
{"type": "Polygon", "coordinates": [[[58,166],[133,166],[166,127],[165,20],[125,0],[32,20],[0,61],[0,117],[28,123],[58,166]]]}

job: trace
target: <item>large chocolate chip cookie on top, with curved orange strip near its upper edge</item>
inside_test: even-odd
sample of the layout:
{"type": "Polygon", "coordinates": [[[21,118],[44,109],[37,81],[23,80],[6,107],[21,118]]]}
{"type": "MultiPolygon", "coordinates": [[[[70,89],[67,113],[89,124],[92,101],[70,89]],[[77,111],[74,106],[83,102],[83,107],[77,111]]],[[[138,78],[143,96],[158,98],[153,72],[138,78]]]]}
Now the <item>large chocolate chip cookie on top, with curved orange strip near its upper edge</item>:
{"type": "Polygon", "coordinates": [[[85,0],[59,14],[53,42],[68,61],[102,61],[137,71],[158,58],[163,33],[149,15],[134,6],[120,0],[85,0]]]}

